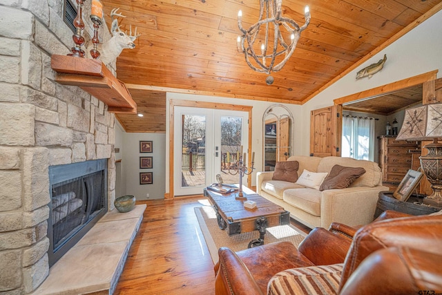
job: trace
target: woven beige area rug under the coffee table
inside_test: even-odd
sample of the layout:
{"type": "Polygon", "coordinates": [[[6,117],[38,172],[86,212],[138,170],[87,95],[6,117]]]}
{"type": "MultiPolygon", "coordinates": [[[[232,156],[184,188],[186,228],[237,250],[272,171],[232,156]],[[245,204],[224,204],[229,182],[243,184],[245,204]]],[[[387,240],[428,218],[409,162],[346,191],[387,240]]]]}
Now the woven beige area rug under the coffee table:
{"type": "MultiPolygon", "coordinates": [[[[204,239],[206,240],[207,247],[209,248],[213,264],[218,262],[218,249],[220,247],[229,247],[233,251],[240,251],[247,249],[251,240],[260,237],[259,231],[229,236],[227,231],[222,231],[218,227],[215,210],[210,206],[195,207],[195,214],[198,218],[204,239]]],[[[305,236],[307,236],[307,234],[299,231],[292,225],[280,225],[267,229],[264,242],[265,244],[269,244],[271,242],[289,241],[298,247],[305,236]]]]}

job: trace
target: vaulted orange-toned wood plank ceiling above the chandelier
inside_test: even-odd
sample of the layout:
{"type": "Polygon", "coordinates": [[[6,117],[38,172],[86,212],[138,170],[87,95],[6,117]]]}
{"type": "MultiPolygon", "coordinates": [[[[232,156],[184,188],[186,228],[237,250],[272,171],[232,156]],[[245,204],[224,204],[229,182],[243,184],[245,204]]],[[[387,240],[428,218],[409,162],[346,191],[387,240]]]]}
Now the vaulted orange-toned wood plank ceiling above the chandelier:
{"type": "Polygon", "coordinates": [[[144,113],[117,115],[128,132],[165,131],[166,91],[302,104],[442,8],[441,0],[282,0],[282,15],[300,25],[308,5],[311,23],[268,86],[236,48],[238,10],[248,28],[258,19],[258,0],[102,2],[108,27],[111,10],[120,8],[122,30],[131,24],[141,33],[136,48],[117,59],[117,77],[144,113]],[[160,110],[164,122],[151,122],[160,110]]]}

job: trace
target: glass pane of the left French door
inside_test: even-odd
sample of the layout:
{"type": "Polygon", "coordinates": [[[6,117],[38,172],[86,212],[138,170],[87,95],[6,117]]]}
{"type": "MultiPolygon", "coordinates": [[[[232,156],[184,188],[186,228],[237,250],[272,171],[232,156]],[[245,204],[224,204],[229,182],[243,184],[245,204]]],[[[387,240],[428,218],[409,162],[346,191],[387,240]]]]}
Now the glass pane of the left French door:
{"type": "Polygon", "coordinates": [[[206,116],[182,115],[181,187],[206,182],[206,116]]]}

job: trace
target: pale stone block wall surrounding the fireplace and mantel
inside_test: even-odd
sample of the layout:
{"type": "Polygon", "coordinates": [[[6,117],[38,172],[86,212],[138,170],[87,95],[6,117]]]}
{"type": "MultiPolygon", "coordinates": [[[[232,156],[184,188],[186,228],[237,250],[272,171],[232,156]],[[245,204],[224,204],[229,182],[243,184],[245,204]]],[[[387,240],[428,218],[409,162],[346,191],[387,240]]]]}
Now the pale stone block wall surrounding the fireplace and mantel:
{"type": "MultiPolygon", "coordinates": [[[[57,84],[50,68],[52,54],[73,46],[63,5],[0,0],[0,294],[28,294],[48,276],[48,166],[108,158],[114,208],[115,115],[81,88],[57,84]]],[[[85,21],[89,14],[85,1],[85,21]]],[[[106,26],[100,35],[108,38],[106,26]]]]}

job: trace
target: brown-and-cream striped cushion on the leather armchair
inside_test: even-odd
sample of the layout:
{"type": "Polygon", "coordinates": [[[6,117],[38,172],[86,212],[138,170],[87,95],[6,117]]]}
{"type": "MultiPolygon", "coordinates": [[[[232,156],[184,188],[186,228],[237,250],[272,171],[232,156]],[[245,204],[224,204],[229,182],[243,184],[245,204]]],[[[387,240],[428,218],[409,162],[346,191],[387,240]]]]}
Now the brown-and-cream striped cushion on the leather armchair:
{"type": "Polygon", "coordinates": [[[338,294],[343,264],[286,269],[275,274],[267,294],[338,294]]]}

